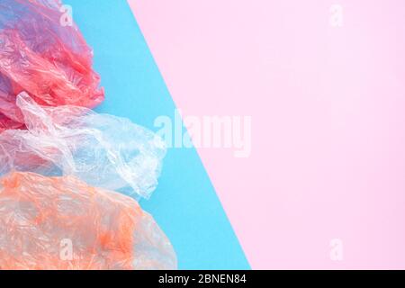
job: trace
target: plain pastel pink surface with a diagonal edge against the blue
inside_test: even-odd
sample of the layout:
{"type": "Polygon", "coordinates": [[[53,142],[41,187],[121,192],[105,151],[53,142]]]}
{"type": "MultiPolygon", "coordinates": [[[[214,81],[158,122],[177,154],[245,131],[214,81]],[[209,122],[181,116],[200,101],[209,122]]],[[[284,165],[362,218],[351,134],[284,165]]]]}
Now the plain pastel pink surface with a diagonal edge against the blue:
{"type": "Polygon", "coordinates": [[[129,2],[184,115],[252,116],[199,153],[253,268],[405,268],[405,2],[129,2]]]}

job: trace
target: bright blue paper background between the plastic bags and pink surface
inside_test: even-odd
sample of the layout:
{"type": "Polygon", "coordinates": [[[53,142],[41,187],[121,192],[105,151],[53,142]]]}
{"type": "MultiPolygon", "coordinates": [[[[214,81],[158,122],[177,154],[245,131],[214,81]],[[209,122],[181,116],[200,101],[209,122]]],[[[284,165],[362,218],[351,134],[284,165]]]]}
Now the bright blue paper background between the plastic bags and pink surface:
{"type": "MultiPolygon", "coordinates": [[[[125,0],[65,0],[94,49],[106,100],[96,109],[153,127],[175,103],[125,0]]],[[[157,20],[158,21],[158,20],[157,20]]],[[[157,190],[142,207],[173,243],[180,269],[249,269],[194,148],[169,149],[157,190]]]]}

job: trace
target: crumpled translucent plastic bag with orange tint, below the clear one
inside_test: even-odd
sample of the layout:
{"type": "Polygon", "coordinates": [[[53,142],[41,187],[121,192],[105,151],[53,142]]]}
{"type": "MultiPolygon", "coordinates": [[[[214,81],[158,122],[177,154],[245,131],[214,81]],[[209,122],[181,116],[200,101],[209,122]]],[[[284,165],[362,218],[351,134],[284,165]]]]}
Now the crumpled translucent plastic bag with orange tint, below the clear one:
{"type": "Polygon", "coordinates": [[[175,269],[153,218],[73,176],[0,178],[0,269],[175,269]]]}

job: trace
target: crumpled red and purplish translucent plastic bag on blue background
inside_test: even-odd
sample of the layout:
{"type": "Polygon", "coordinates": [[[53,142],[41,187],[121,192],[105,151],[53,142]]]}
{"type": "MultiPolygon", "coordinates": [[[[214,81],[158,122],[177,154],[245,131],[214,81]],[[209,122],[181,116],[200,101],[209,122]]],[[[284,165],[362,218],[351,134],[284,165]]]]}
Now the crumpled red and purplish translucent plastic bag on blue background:
{"type": "Polygon", "coordinates": [[[23,128],[15,106],[25,91],[42,105],[93,108],[103,102],[93,50],[58,0],[0,1],[0,131],[23,128]]]}

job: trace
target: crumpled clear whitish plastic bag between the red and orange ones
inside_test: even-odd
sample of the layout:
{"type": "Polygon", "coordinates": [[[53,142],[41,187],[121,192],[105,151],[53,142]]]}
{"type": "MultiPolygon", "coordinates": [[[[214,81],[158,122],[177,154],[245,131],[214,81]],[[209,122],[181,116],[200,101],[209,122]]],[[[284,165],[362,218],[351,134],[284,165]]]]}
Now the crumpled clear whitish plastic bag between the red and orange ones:
{"type": "Polygon", "coordinates": [[[40,106],[26,93],[16,103],[28,130],[0,133],[0,175],[76,175],[135,198],[155,190],[166,147],[152,131],[84,107],[40,106]]]}

